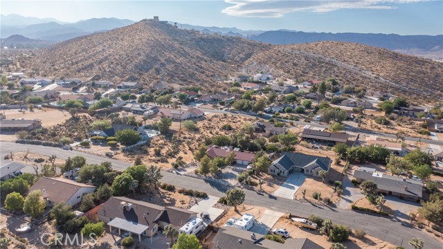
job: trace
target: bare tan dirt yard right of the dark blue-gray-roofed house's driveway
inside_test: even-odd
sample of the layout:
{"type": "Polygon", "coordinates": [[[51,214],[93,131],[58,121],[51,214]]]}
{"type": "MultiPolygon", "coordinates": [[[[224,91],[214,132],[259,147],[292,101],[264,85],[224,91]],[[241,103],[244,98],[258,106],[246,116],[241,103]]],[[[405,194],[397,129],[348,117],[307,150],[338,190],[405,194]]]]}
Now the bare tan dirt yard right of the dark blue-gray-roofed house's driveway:
{"type": "Polygon", "coordinates": [[[305,199],[311,201],[317,201],[312,197],[314,192],[321,193],[321,198],[325,199],[329,198],[333,203],[336,203],[340,197],[334,194],[334,185],[329,185],[327,183],[323,183],[321,178],[307,176],[305,182],[300,186],[300,188],[296,192],[297,199],[302,198],[302,191],[306,190],[305,199]]]}

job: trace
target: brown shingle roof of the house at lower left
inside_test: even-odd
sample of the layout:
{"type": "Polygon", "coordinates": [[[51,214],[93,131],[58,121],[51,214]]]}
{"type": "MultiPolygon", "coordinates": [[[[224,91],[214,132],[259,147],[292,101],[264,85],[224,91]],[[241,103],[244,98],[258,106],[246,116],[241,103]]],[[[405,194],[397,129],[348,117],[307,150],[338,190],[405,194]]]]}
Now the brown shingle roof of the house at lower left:
{"type": "Polygon", "coordinates": [[[71,197],[82,187],[96,188],[91,185],[77,183],[66,178],[42,177],[29,188],[29,192],[33,190],[46,190],[46,196],[55,203],[66,203],[71,197]]]}

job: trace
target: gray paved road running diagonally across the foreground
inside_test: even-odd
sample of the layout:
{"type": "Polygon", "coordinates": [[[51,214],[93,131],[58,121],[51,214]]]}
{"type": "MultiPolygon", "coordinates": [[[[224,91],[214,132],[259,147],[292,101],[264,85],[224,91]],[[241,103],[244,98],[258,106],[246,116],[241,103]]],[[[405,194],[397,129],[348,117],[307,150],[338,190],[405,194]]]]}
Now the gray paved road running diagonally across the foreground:
{"type": "MultiPolygon", "coordinates": [[[[67,158],[68,156],[84,156],[87,158],[88,163],[101,163],[102,161],[109,161],[112,163],[114,169],[117,170],[124,170],[131,165],[131,163],[90,155],[79,151],[64,151],[59,148],[43,147],[39,145],[20,145],[14,142],[1,142],[0,146],[2,155],[8,154],[10,151],[15,152],[30,149],[30,152],[32,153],[43,155],[56,154],[59,158],[67,158]]],[[[229,189],[229,187],[226,185],[190,178],[189,176],[181,176],[170,172],[162,172],[162,174],[162,181],[165,183],[172,183],[177,187],[201,190],[212,196],[224,196],[226,191],[229,189]]],[[[273,196],[271,194],[262,194],[251,190],[244,190],[244,192],[246,194],[245,203],[248,205],[262,206],[278,212],[291,212],[293,214],[297,214],[298,216],[309,216],[310,214],[316,214],[322,216],[323,218],[329,217],[336,223],[341,223],[354,229],[365,230],[365,232],[374,237],[388,241],[396,246],[403,246],[405,248],[411,248],[408,245],[408,241],[410,241],[411,238],[416,237],[421,237],[426,242],[426,248],[442,248],[442,244],[439,241],[400,220],[393,221],[382,216],[363,214],[354,212],[352,210],[328,208],[323,205],[316,205],[316,203],[309,203],[306,201],[294,201],[278,198],[277,196],[273,196]]]]}

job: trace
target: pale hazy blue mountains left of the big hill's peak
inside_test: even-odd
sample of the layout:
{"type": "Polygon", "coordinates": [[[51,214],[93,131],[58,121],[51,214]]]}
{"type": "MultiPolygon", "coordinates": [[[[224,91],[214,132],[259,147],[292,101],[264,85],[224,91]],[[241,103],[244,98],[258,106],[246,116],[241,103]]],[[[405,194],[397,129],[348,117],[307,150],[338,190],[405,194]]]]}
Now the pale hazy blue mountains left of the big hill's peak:
{"type": "MultiPolygon", "coordinates": [[[[134,21],[116,18],[93,18],[77,21],[73,24],[60,24],[57,21],[49,21],[28,26],[3,25],[1,20],[0,36],[10,37],[11,35],[24,35],[31,39],[42,39],[46,41],[62,42],[66,39],[88,35],[91,33],[111,30],[133,24],[134,21]]],[[[10,24],[10,22],[7,22],[10,24]]]]}

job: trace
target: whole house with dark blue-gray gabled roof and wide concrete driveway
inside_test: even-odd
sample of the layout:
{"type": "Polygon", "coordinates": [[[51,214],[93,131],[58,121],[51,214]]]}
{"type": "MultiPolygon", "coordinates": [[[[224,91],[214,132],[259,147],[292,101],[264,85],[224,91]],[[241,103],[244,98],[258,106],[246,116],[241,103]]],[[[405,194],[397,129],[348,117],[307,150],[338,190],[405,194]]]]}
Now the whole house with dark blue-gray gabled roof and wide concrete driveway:
{"type": "Polygon", "coordinates": [[[327,156],[311,156],[301,153],[284,152],[268,168],[268,174],[287,176],[291,172],[302,172],[307,176],[320,177],[320,170],[329,171],[332,160],[327,156]]]}

